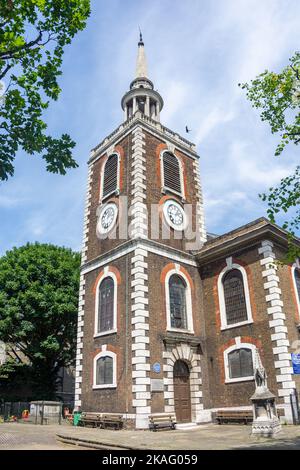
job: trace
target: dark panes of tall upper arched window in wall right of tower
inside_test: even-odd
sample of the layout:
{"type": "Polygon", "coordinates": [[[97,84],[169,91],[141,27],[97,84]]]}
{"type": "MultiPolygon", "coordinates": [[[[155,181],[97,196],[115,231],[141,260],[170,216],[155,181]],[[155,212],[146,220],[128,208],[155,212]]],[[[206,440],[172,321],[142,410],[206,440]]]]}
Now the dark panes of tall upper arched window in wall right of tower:
{"type": "Polygon", "coordinates": [[[247,306],[241,271],[232,269],[225,274],[223,288],[227,325],[247,321],[247,306]]]}

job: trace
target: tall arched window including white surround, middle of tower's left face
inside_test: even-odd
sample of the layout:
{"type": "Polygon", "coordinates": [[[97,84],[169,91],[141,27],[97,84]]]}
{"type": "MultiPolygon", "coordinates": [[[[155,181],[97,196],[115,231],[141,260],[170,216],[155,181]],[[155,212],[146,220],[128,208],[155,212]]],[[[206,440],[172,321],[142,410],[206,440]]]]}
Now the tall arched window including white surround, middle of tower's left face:
{"type": "Polygon", "coordinates": [[[95,336],[113,333],[117,328],[117,279],[107,272],[96,288],[95,336]]]}

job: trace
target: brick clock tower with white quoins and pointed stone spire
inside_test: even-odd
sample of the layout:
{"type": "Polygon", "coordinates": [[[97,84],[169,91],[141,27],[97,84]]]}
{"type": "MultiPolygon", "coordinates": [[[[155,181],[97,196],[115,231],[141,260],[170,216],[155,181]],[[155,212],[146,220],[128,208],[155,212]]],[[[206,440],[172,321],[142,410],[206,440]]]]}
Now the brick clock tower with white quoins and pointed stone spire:
{"type": "MultiPolygon", "coordinates": [[[[166,103],[167,105],[167,103],[166,103]]],[[[75,405],[148,427],[152,413],[203,411],[206,240],[195,146],[161,124],[142,36],[123,122],[88,162],[75,405]]]]}

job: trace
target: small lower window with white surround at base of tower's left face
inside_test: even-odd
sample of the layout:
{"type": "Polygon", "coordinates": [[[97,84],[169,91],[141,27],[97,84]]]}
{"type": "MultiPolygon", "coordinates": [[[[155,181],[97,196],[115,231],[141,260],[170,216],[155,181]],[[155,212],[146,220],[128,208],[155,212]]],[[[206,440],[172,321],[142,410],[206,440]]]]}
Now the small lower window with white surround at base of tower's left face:
{"type": "Polygon", "coordinates": [[[117,386],[116,355],[102,351],[94,358],[93,388],[112,388],[117,386]]]}

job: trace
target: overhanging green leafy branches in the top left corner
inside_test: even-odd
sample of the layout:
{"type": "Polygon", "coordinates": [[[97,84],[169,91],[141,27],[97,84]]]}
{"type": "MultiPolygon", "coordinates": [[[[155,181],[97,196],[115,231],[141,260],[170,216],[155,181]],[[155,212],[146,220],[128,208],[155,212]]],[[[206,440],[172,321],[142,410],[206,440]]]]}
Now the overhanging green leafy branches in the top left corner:
{"type": "Polygon", "coordinates": [[[13,175],[20,149],[42,154],[53,173],[77,167],[75,142],[48,135],[43,113],[61,91],[64,49],[89,14],[90,0],[1,0],[0,180],[13,175]]]}

